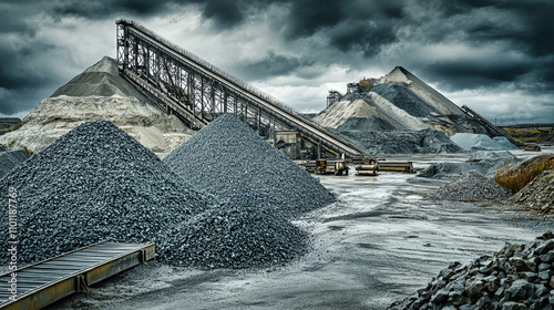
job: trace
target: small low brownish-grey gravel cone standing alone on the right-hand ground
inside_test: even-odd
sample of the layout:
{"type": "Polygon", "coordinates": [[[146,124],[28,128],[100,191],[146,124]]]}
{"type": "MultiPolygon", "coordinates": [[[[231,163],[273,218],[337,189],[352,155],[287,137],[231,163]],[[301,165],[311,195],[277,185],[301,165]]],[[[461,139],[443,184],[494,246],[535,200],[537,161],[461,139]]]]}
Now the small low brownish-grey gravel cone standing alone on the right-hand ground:
{"type": "Polygon", "coordinates": [[[429,197],[431,199],[445,200],[483,200],[483,199],[501,199],[510,196],[511,193],[506,188],[497,185],[494,180],[485,177],[476,170],[469,170],[453,182],[437,189],[429,197]]]}

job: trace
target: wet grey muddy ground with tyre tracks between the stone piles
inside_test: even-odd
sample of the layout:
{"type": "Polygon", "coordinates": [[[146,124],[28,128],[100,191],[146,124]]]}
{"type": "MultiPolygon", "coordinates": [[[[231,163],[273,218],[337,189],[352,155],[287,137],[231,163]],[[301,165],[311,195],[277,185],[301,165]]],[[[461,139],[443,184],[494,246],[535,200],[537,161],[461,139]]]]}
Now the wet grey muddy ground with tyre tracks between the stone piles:
{"type": "MultiPolygon", "coordinates": [[[[424,168],[468,157],[410,159],[424,168]]],[[[314,235],[314,249],[287,266],[205,271],[151,262],[49,309],[384,309],[454,260],[492,254],[506,241],[525,244],[554,228],[554,217],[513,206],[429,200],[425,194],[444,182],[414,175],[318,178],[339,202],[295,221],[314,235]]]]}

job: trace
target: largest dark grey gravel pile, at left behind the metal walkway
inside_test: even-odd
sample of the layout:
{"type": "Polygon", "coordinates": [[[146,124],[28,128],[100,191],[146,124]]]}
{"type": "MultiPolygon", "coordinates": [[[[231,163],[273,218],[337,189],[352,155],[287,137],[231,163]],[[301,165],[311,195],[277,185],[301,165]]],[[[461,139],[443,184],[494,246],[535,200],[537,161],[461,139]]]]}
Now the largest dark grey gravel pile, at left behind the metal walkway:
{"type": "MultiPolygon", "coordinates": [[[[107,121],[81,124],[2,179],[18,194],[18,259],[33,262],[101,240],[162,241],[161,231],[204,211],[151,151],[107,121]]],[[[8,205],[8,202],[4,202],[8,205]]],[[[0,221],[8,231],[8,220],[0,221]]],[[[7,244],[8,235],[0,235],[7,244]]],[[[8,256],[1,256],[6,262],[8,256]]],[[[173,258],[165,258],[171,262],[173,258]]]]}

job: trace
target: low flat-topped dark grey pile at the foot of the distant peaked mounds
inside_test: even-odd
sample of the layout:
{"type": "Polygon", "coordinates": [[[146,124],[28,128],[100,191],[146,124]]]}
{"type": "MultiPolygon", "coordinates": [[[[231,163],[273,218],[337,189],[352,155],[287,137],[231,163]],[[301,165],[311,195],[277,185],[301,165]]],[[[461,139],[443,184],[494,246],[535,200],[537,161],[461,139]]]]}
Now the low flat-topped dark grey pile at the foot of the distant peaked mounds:
{"type": "Polygon", "coordinates": [[[462,152],[443,133],[434,130],[338,133],[373,155],[462,152]]]}

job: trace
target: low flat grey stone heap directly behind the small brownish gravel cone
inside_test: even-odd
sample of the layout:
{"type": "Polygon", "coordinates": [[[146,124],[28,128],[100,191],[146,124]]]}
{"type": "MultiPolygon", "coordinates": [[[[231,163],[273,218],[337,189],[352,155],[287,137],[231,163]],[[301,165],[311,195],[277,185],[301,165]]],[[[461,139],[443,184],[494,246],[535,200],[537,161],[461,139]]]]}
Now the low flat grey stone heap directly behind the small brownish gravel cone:
{"type": "Polygon", "coordinates": [[[438,163],[432,164],[418,174],[419,177],[438,179],[454,179],[469,170],[478,170],[492,177],[496,169],[504,167],[506,163],[517,163],[520,159],[507,151],[479,151],[463,163],[438,163]]]}

